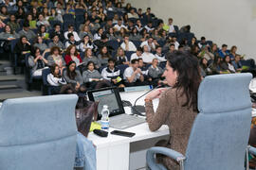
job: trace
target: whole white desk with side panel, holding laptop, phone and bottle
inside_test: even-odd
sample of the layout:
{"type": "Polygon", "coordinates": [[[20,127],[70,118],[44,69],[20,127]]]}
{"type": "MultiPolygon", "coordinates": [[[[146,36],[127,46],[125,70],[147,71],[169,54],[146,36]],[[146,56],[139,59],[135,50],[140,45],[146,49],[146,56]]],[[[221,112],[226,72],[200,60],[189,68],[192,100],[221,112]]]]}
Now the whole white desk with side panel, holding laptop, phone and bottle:
{"type": "MultiPolygon", "coordinates": [[[[122,100],[129,100],[133,104],[137,97],[143,93],[146,93],[146,91],[120,93],[120,97],[122,100]]],[[[144,105],[144,97],[139,99],[137,104],[144,105]]],[[[155,109],[157,104],[158,100],[155,99],[155,109]]],[[[109,132],[112,130],[114,128],[110,128],[109,132]]],[[[134,170],[145,167],[146,149],[154,146],[155,139],[169,136],[169,127],[162,126],[157,131],[152,132],[147,123],[126,128],[124,131],[135,132],[136,135],[132,138],[127,138],[109,133],[107,138],[101,138],[92,132],[89,133],[88,139],[97,147],[97,170],[134,170]],[[141,148],[139,145],[144,146],[144,148],[141,148]],[[130,154],[130,152],[133,153],[130,154]],[[135,161],[137,161],[138,165],[135,164],[135,161]]]]}

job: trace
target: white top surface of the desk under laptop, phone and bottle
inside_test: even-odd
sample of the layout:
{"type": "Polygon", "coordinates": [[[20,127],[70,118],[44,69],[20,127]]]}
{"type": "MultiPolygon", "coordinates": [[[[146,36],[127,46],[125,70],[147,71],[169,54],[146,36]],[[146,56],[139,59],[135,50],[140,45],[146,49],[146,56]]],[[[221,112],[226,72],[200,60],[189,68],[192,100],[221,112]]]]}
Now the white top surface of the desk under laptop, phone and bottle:
{"type": "MultiPolygon", "coordinates": [[[[122,100],[128,100],[132,104],[134,104],[137,97],[146,92],[147,91],[120,93],[120,97],[122,100]]],[[[158,99],[155,99],[153,103],[154,103],[154,109],[156,109],[157,104],[158,104],[158,99]]],[[[137,105],[144,105],[144,97],[141,97],[137,101],[137,105]]],[[[127,109],[125,109],[125,110],[127,111],[127,109]]],[[[129,113],[129,109],[128,109],[127,113],[129,113]]],[[[110,127],[109,132],[113,131],[114,129],[115,128],[110,127]]],[[[135,127],[125,128],[125,129],[123,129],[123,131],[134,132],[134,133],[136,133],[136,135],[132,138],[128,138],[128,137],[112,135],[109,133],[107,138],[102,138],[100,136],[95,135],[93,132],[90,132],[88,135],[88,139],[92,140],[93,144],[95,144],[98,148],[101,148],[101,147],[107,147],[107,146],[115,145],[115,144],[133,143],[133,142],[137,142],[137,141],[141,141],[141,140],[164,136],[164,135],[169,134],[169,127],[164,125],[164,126],[160,127],[158,130],[152,132],[152,131],[150,131],[148,124],[144,123],[144,124],[137,125],[135,127]]]]}

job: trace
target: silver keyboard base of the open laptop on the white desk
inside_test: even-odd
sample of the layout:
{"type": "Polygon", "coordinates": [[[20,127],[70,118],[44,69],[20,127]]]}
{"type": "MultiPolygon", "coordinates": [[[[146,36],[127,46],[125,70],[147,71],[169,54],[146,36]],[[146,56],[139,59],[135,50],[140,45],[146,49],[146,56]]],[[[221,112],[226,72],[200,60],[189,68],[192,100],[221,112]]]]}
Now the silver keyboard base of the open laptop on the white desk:
{"type": "Polygon", "coordinates": [[[123,129],[127,127],[134,127],[139,124],[146,122],[145,118],[137,117],[135,115],[129,114],[119,114],[113,117],[110,117],[109,126],[123,129]]]}

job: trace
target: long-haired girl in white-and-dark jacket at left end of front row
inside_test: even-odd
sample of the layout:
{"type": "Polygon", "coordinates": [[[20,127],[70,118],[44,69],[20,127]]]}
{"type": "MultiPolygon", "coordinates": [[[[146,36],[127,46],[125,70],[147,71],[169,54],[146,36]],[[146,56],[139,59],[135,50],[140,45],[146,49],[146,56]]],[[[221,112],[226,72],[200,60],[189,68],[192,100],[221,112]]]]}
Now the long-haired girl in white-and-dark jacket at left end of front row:
{"type": "Polygon", "coordinates": [[[60,73],[60,67],[57,64],[50,66],[50,74],[47,75],[47,82],[52,86],[51,93],[74,93],[72,87],[66,84],[60,73]]]}

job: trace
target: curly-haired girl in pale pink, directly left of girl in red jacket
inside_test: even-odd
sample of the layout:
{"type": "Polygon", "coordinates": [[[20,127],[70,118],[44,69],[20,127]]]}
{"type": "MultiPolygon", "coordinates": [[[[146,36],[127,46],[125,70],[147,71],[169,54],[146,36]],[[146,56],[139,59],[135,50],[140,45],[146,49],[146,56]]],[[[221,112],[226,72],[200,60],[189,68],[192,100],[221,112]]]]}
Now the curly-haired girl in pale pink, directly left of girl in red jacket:
{"type": "Polygon", "coordinates": [[[53,46],[50,49],[50,56],[48,57],[48,65],[52,66],[57,64],[61,69],[61,75],[63,75],[63,70],[65,68],[65,61],[61,56],[61,49],[58,46],[53,46]]]}

